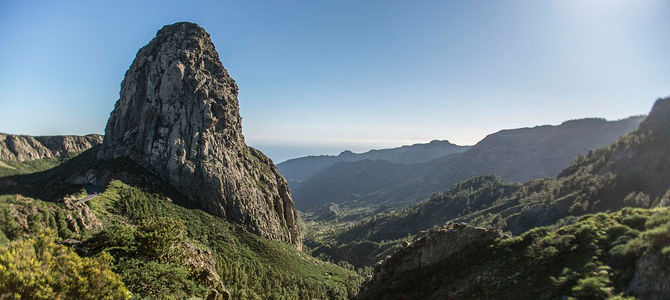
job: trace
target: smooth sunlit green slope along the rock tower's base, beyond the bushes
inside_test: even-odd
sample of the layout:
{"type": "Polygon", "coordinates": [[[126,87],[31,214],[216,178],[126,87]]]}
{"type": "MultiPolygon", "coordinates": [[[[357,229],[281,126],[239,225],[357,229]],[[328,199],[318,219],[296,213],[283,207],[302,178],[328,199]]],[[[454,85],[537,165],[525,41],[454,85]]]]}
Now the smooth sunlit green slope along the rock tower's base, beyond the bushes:
{"type": "Polygon", "coordinates": [[[201,210],[183,208],[119,181],[113,181],[89,205],[105,224],[133,224],[157,217],[182,221],[188,239],[212,251],[219,275],[234,299],[344,299],[353,296],[360,283],[355,273],[314,259],[291,245],[260,238],[201,210]],[[132,217],[119,214],[124,191],[143,198],[143,208],[134,208],[132,217]]]}

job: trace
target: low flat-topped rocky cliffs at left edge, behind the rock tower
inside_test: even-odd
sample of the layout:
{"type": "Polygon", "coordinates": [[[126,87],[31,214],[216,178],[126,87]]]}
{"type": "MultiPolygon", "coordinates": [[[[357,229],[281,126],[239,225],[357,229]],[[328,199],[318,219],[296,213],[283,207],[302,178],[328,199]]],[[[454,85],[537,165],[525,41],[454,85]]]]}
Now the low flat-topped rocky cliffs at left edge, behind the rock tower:
{"type": "Polygon", "coordinates": [[[29,136],[0,133],[0,159],[26,161],[60,157],[102,143],[102,135],[29,136]]]}

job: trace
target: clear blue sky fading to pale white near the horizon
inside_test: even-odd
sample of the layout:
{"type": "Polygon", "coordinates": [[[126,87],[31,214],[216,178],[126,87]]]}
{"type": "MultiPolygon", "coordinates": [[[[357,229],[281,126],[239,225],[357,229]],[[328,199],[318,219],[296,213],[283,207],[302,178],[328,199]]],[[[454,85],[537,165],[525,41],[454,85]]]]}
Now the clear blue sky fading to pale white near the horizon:
{"type": "Polygon", "coordinates": [[[211,35],[248,144],[275,162],[648,113],[670,1],[0,0],[0,132],[103,133],[163,25],[211,35]]]}

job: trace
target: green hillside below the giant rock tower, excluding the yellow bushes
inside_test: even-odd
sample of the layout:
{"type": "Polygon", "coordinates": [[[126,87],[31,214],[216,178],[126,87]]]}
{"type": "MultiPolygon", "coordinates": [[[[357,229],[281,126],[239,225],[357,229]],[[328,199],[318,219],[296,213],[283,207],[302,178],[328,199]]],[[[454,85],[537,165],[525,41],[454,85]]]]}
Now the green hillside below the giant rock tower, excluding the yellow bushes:
{"type": "MultiPolygon", "coordinates": [[[[206,298],[230,293],[231,299],[347,299],[357,293],[361,277],[355,272],[248,233],[204,211],[177,205],[178,196],[161,192],[158,184],[138,186],[112,180],[87,202],[90,209],[82,208],[76,199],[85,192],[62,196],[76,186],[65,183],[61,176],[94,167],[91,157],[84,153],[45,173],[10,177],[20,184],[0,196],[0,240],[8,245],[0,256],[11,253],[16,243],[50,234],[57,243],[76,249],[83,259],[110,255],[111,270],[133,298],[206,298]],[[40,187],[53,190],[30,192],[40,187]],[[40,194],[67,200],[26,196],[40,194]]],[[[108,161],[97,167],[112,164],[108,161]]],[[[152,180],[128,164],[116,163],[126,171],[119,173],[125,174],[126,181],[152,180]]],[[[50,287],[63,289],[66,279],[50,287]]],[[[31,293],[26,292],[24,298],[37,297],[31,293]]]]}

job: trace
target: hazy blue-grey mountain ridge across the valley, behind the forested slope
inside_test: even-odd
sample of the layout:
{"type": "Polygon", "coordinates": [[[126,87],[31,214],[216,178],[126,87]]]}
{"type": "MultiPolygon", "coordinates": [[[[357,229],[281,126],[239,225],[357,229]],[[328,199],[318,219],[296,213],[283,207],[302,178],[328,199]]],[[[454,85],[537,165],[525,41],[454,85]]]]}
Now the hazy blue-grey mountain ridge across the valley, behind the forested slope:
{"type": "Polygon", "coordinates": [[[496,174],[505,181],[556,176],[577,155],[614,142],[637,128],[642,119],[583,119],[558,126],[503,130],[463,153],[398,165],[392,173],[388,164],[336,164],[292,186],[292,194],[296,205],[305,210],[330,202],[402,207],[472,176],[496,174]],[[351,184],[352,178],[356,185],[351,184]]]}

